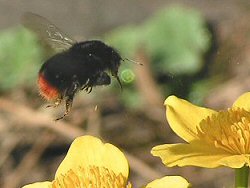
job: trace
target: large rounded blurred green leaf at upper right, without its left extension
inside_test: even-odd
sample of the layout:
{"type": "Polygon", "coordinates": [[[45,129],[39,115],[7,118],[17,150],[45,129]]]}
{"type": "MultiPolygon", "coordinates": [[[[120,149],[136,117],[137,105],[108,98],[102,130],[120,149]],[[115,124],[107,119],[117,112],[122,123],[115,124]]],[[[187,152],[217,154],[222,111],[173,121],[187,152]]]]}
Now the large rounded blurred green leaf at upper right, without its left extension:
{"type": "Polygon", "coordinates": [[[143,33],[157,72],[179,75],[201,69],[210,41],[197,11],[182,7],[163,10],[145,23],[143,33]]]}

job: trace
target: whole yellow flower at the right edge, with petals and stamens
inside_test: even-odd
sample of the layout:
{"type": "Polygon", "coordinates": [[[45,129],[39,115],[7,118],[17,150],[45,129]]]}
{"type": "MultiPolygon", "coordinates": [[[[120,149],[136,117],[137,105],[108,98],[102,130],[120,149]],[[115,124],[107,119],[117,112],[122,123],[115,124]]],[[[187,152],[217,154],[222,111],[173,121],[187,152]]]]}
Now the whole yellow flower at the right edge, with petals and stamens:
{"type": "Polygon", "coordinates": [[[170,127],[188,142],[152,149],[166,166],[250,166],[250,93],[218,112],[175,96],[168,97],[165,105],[170,127]]]}

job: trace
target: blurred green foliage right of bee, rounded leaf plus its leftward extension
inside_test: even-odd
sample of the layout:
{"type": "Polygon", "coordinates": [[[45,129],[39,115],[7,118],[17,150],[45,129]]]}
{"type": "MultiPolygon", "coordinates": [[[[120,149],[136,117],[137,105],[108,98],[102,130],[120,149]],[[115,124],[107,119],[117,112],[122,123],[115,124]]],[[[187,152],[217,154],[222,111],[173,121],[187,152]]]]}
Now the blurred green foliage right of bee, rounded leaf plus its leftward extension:
{"type": "Polygon", "coordinates": [[[194,74],[202,68],[210,34],[198,11],[173,6],[139,26],[125,26],[106,37],[120,52],[133,57],[146,50],[159,73],[194,74]]]}

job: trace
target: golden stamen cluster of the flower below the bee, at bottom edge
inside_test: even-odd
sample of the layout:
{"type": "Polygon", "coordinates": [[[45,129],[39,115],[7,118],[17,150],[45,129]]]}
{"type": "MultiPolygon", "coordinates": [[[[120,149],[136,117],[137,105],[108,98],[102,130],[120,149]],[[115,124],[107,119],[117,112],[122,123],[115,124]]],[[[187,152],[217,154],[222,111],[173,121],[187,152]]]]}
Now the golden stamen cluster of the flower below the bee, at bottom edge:
{"type": "Polygon", "coordinates": [[[52,188],[131,188],[121,173],[116,175],[104,167],[89,166],[69,170],[52,182],[52,188]]]}

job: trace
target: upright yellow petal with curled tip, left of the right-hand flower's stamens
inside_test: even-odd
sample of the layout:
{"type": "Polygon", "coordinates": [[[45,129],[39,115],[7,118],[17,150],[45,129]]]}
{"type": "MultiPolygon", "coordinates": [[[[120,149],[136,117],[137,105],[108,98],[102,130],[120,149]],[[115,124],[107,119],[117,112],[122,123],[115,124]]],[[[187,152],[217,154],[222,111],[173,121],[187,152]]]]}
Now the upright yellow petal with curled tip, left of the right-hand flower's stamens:
{"type": "Polygon", "coordinates": [[[195,106],[186,100],[170,96],[164,103],[171,129],[182,139],[189,142],[197,138],[196,127],[200,121],[216,111],[195,106]]]}

